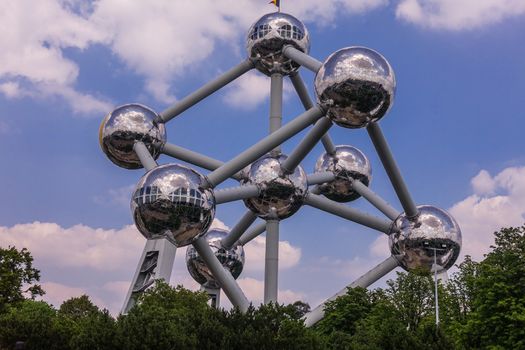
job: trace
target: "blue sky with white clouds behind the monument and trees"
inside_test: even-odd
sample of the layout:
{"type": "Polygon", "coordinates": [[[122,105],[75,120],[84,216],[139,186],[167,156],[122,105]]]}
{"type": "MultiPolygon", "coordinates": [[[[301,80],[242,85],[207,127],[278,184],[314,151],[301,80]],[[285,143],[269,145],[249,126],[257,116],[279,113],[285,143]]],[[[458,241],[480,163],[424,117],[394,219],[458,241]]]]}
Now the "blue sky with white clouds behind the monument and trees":
{"type": "MultiPolygon", "coordinates": [[[[390,61],[398,85],[383,131],[416,202],[456,217],[464,254],[481,259],[494,230],[523,223],[525,0],[282,3],[304,20],[319,60],[362,45],[390,61]]],[[[130,102],[164,110],[242,61],[250,24],[271,11],[265,0],[0,2],[0,245],[31,250],[46,300],[87,293],[116,312],[144,246],[129,212],[143,171],[105,158],[97,140],[104,115],[130,102]]],[[[302,75],[312,92],[313,75],[302,75]]],[[[268,89],[268,78],[250,73],[171,121],[168,140],[232,158],[267,133],[268,89]]],[[[285,91],[288,122],[301,105],[285,91]]],[[[368,155],[371,187],[400,209],[366,132],[330,134],[368,155]]],[[[305,159],[307,172],[322,151],[305,159]]],[[[362,199],[351,205],[380,215],[362,199]]],[[[244,210],[221,205],[217,218],[231,227],[244,210]]],[[[281,227],[282,302],[315,306],[389,255],[385,235],[311,208],[281,227]]],[[[177,251],[172,283],[197,288],[184,254],[177,251]]],[[[246,259],[240,285],[258,301],[262,237],[246,246],[246,259]]]]}

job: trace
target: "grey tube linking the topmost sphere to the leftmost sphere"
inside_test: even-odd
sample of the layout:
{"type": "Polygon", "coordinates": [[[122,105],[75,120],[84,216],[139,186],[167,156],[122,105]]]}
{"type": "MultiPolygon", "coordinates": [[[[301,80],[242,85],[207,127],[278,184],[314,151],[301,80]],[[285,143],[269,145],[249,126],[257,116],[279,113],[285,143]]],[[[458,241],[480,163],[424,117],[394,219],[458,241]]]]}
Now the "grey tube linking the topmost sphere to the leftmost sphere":
{"type": "Polygon", "coordinates": [[[213,94],[215,91],[228,85],[233,80],[237,79],[244,73],[248,72],[253,67],[254,67],[253,62],[250,59],[247,59],[239,63],[237,66],[233,67],[232,69],[225,72],[221,76],[205,84],[197,91],[184,97],[182,100],[180,100],[173,106],[169,107],[162,113],[160,113],[160,118],[162,119],[162,122],[166,123],[170,121],[171,119],[175,118],[176,116],[178,116],[179,114],[181,114],[182,112],[190,108],[191,106],[195,105],[196,103],[200,102],[204,98],[213,94]]]}

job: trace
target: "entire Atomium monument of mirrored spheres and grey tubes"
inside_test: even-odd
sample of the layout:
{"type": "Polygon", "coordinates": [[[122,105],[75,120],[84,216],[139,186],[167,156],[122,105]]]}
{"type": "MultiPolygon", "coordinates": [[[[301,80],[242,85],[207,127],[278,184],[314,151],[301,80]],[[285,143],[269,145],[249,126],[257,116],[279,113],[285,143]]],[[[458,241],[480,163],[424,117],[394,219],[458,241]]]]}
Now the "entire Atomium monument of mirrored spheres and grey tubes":
{"type": "MultiPolygon", "coordinates": [[[[416,206],[379,125],[392,108],[395,75],[374,50],[351,46],[320,62],[308,55],[310,37],[304,24],[285,13],[270,13],[247,33],[247,59],[157,114],[139,104],[117,107],[103,120],[100,145],[107,157],[125,169],[144,168],[131,198],[132,217],[147,239],[122,309],[126,313],[139,293],[156,279],[169,281],[177,247],[189,246],[190,275],[218,306],[219,290],[247,310],[250,302],[235,281],[244,267],[243,246],[266,231],[264,302],[276,302],[279,222],[300,215],[307,205],[389,237],[391,256],[348,287],[368,287],[397,266],[409,272],[446,271],[461,249],[461,230],[450,214],[430,205],[416,206]],[[299,74],[313,71],[316,103],[299,74]],[[221,162],[167,142],[165,123],[180,116],[244,73],[256,69],[270,77],[270,134],[221,162]],[[291,80],[305,112],[282,125],[283,79],[291,80]],[[354,146],[334,145],[333,125],[349,133],[365,129],[399,198],[403,211],[390,206],[369,186],[372,166],[354,146]],[[281,144],[309,128],[290,154],[281,144]],[[301,161],[318,143],[321,154],[312,173],[301,161]],[[189,163],[158,165],[160,154],[189,163]],[[219,188],[227,179],[236,187],[219,188]],[[358,198],[375,206],[384,218],[351,206],[358,198]],[[228,232],[210,229],[217,206],[242,200],[247,208],[228,232]],[[260,221],[256,223],[256,221],[260,221]]],[[[346,288],[329,300],[346,293],[346,288]]],[[[305,316],[307,325],[323,317],[323,305],[305,316]]]]}

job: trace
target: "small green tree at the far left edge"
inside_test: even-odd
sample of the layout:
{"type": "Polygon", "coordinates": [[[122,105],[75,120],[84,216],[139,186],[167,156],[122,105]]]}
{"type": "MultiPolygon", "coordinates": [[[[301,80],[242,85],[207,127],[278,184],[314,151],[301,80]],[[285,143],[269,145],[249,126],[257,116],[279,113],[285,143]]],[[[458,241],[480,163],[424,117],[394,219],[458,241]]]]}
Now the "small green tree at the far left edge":
{"type": "Polygon", "coordinates": [[[40,271],[33,267],[33,257],[26,248],[0,248],[0,313],[7,305],[43,295],[36,284],[40,271]]]}

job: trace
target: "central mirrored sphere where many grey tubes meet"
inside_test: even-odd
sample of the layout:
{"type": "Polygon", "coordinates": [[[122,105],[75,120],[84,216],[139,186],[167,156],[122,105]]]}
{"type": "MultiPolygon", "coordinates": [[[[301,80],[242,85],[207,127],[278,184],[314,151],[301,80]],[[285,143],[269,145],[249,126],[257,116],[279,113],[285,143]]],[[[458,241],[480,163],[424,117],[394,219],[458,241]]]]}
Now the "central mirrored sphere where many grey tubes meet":
{"type": "Polygon", "coordinates": [[[308,190],[306,174],[298,166],[293,174],[285,175],[281,164],[285,155],[266,155],[254,162],[244,184],[259,187],[257,198],[244,200],[244,204],[259,217],[266,219],[275,211],[278,219],[292,216],[303,204],[308,190]]]}

